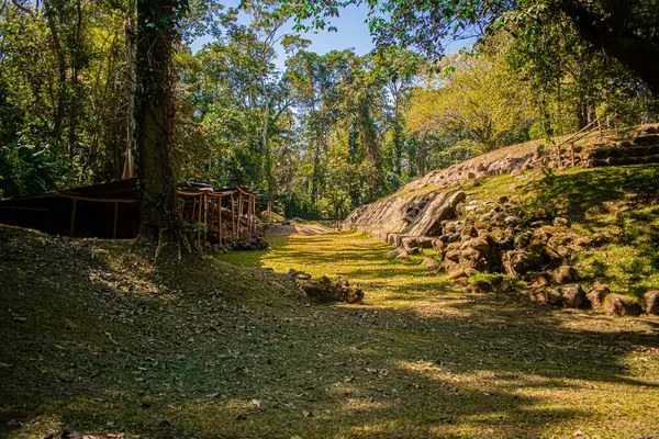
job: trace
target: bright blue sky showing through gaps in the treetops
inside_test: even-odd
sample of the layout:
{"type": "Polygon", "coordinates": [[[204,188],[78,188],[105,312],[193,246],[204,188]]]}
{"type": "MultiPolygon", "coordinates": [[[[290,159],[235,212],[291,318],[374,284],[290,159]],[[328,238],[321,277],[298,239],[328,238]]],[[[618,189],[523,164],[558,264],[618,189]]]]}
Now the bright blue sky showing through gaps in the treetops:
{"type": "MultiPolygon", "coordinates": [[[[239,3],[237,0],[227,0],[225,5],[236,7],[239,3]]],[[[368,26],[365,23],[368,8],[362,4],[360,7],[350,5],[340,11],[340,16],[332,20],[332,25],[337,27],[337,32],[317,31],[306,32],[302,34],[302,37],[312,42],[308,48],[310,52],[317,54],[325,54],[331,50],[344,50],[348,48],[355,49],[357,55],[365,55],[373,48],[373,43],[368,31],[368,26]]],[[[292,30],[293,22],[288,23],[282,30],[282,34],[294,33],[292,30]]],[[[210,37],[199,38],[192,43],[192,50],[199,50],[205,43],[212,41],[210,37]]],[[[447,46],[447,53],[457,52],[463,47],[467,43],[459,42],[449,44],[447,46]]],[[[277,66],[283,69],[284,61],[283,48],[278,49],[277,66]]]]}

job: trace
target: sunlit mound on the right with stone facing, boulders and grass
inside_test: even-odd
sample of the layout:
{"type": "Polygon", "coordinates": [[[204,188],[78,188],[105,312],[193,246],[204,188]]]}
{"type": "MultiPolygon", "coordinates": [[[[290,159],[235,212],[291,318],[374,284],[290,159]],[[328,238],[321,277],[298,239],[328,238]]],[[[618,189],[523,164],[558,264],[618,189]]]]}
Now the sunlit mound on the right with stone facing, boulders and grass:
{"type": "Polygon", "coordinates": [[[606,286],[641,301],[612,312],[657,313],[659,136],[646,126],[632,138],[584,140],[581,161],[601,167],[549,172],[534,143],[504,148],[432,172],[343,226],[392,244],[402,260],[423,252],[450,279],[504,273],[524,281],[533,300],[563,306],[603,305],[584,292],[606,286]],[[633,162],[644,165],[625,165],[633,162]]]}

